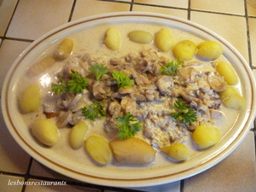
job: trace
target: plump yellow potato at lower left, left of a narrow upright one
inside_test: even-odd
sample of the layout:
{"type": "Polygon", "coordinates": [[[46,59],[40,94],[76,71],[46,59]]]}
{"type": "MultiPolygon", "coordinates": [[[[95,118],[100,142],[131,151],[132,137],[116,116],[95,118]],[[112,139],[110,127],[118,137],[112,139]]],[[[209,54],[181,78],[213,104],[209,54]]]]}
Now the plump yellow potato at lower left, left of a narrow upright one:
{"type": "Polygon", "coordinates": [[[32,123],[31,129],[38,141],[48,146],[54,145],[60,137],[57,126],[49,119],[36,120],[32,123]]]}

